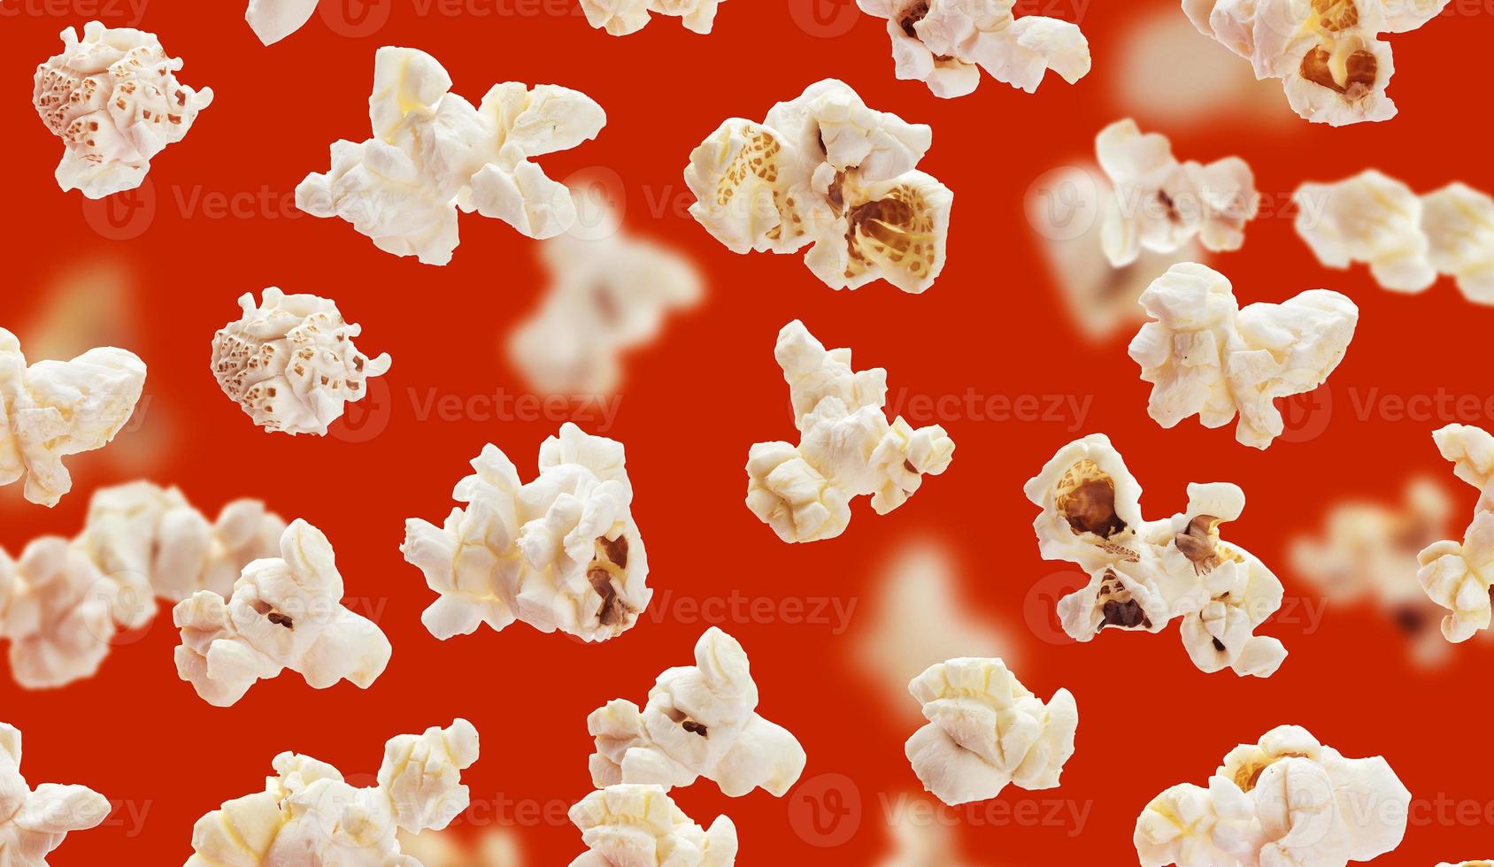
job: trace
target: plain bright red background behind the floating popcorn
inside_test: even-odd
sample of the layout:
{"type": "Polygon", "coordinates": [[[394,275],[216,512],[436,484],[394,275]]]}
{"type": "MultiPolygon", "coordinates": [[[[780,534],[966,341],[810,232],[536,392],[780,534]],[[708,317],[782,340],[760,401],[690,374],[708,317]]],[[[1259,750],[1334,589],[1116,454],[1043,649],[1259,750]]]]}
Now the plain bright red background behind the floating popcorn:
{"type": "MultiPolygon", "coordinates": [[[[258,791],[276,752],[294,749],[348,774],[372,774],[385,739],[457,715],[483,737],[483,757],[463,777],[480,807],[500,798],[580,798],[590,791],[587,712],[614,697],[642,701],[659,672],[689,661],[707,625],[677,618],[675,609],[657,619],[659,612],[650,612],[633,631],[601,646],[521,624],[439,643],[421,627],[418,615],[433,594],[399,555],[405,518],[442,518],[453,483],[484,442],[503,448],[527,476],[557,421],[463,413],[469,418],[421,422],[411,398],[411,389],[421,400],[523,391],[500,343],[545,291],[533,242],[498,221],[468,216],[453,264],[426,267],[376,251],[341,221],[305,218],[288,204],[300,178],[326,170],[333,140],[366,137],[374,51],[387,43],[435,54],[456,91],[474,100],[509,79],[590,94],[608,110],[607,128],[595,142],[545,158],[548,173],[616,172],[622,188],[613,194],[626,198],[627,228],[690,251],[708,276],[707,303],[674,318],[656,345],[630,358],[620,415],[607,431],[627,446],[650,583],[660,594],[832,595],[858,598],[859,610],[870,610],[872,601],[861,597],[898,543],[932,533],[959,552],[971,613],[1038,624],[1022,630],[1028,646],[1019,676],[1041,695],[1059,686],[1076,694],[1079,751],[1062,788],[1011,788],[1002,800],[1061,798],[1092,809],[1082,828],[967,827],[961,845],[968,860],[1011,867],[1134,864],[1131,830],[1150,797],[1177,782],[1203,782],[1231,746],[1285,722],[1309,727],[1351,757],[1385,755],[1424,804],[1406,842],[1379,864],[1490,855],[1488,645],[1458,648],[1455,664],[1424,672],[1374,610],[1330,609],[1316,630],[1300,619],[1268,627],[1291,657],[1274,677],[1255,680],[1198,673],[1173,631],[1106,636],[1091,645],[1044,642],[1053,636],[1046,619],[1052,600],[1032,588],[1064,564],[1040,560],[1020,486],[1055,449],[1089,431],[1110,434],[1125,454],[1147,491],[1150,518],[1180,509],[1191,481],[1240,482],[1249,506],[1228,528],[1231,539],[1273,566],[1289,597],[1313,597],[1288,569],[1285,545],[1315,530],[1337,498],[1391,501],[1409,475],[1425,470],[1457,492],[1458,528],[1472,513],[1475,491],[1451,481],[1430,433],[1449,421],[1488,427],[1494,419],[1392,412],[1360,418],[1351,389],[1361,400],[1373,388],[1401,397],[1437,389],[1488,397],[1494,312],[1467,304],[1449,281],[1404,297],[1377,288],[1363,269],[1327,272],[1294,234],[1289,213],[1268,210],[1249,227],[1242,252],[1212,263],[1234,281],[1242,303],[1330,287],[1360,304],[1358,334],[1331,379],[1331,412],[1315,416],[1330,424],[1319,436],[1292,437],[1306,442],[1283,440],[1268,452],[1194,421],[1159,430],[1146,416],[1147,385],[1125,357],[1128,334],[1104,343],[1079,337],[1022,203],[1035,178],[1083,158],[1094,134],[1128,110],[1109,82],[1123,33],[1140,10],[1176,1],[1059,6],[1056,13],[1080,19],[1091,39],[1089,78],[1068,87],[1050,76],[1037,96],[988,79],[977,94],[950,101],[893,79],[880,21],[856,19],[853,7],[825,1],[816,10],[810,0],[732,0],[708,37],[659,18],[639,34],[614,39],[578,15],[547,13],[524,0],[475,0],[459,15],[423,15],[420,6],[397,0],[372,36],[338,33],[329,27],[339,21],[338,10],[327,9],[296,36],[263,48],[242,21],[244,0],[148,0],[140,24],[187,60],[181,79],[211,85],[217,101],[185,142],[155,161],[154,212],[143,222],[125,221],[124,234],[134,236],[125,240],[103,237],[79,194],[57,190],[60,142],[27,104],[34,66],[58,51],[58,30],[84,22],[87,0],[63,0],[66,15],[39,0],[0,3],[0,112],[12,154],[7,206],[0,209],[0,325],[18,331],[24,346],[25,324],[64,266],[120,261],[131,281],[134,324],[99,337],[146,360],[151,401],[139,430],[111,448],[154,455],[139,464],[75,461],[76,486],[54,510],[21,501],[16,485],[0,509],[0,545],[16,552],[39,534],[75,534],[94,488],[140,475],[179,485],[212,513],[230,498],[260,497],[285,518],[306,518],[327,533],[348,595],[365,612],[378,612],[394,645],[387,673],[366,692],[350,685],[318,692],[287,673],[221,710],[176,679],[176,634],[163,612],[149,630],[123,637],[94,679],[25,692],[0,677],[0,719],[24,731],[24,771],[33,785],[81,782],[146,812],[134,828],[127,813],[117,813],[109,827],[73,834],[52,864],[181,864],[193,821],[258,791]],[[734,257],[672,207],[689,201],[681,182],[687,154],[722,119],[760,119],[774,101],[826,76],[847,81],[877,109],[934,127],[923,169],[958,200],[949,266],[922,297],[884,284],[832,292],[796,257],[734,257]],[[261,191],[275,201],[258,201],[261,191]],[[244,207],[238,215],[208,212],[193,207],[197,194],[239,197],[244,207]],[[671,206],[659,212],[660,200],[671,206]],[[348,319],[365,327],[360,346],[393,355],[387,395],[369,413],[350,416],[362,419],[359,431],[342,425],[341,436],[326,439],[272,436],[218,391],[208,370],[212,333],[238,316],[239,294],[267,285],[338,300],[348,319]],[[1092,406],[1080,431],[1068,430],[1068,421],[991,422],[946,413],[940,421],[958,443],[949,473],[929,479],[893,515],[877,518],[861,501],[843,537],[786,546],[743,506],[743,463],[753,442],[792,434],[772,343],[793,318],[828,345],[855,348],[859,367],[886,367],[893,392],[1071,394],[1092,395],[1092,406]],[[146,442],[151,437],[161,442],[146,442]],[[1433,810],[1439,798],[1475,804],[1464,809],[1484,818],[1440,816],[1433,810]]],[[[1162,131],[1183,158],[1245,157],[1259,188],[1274,195],[1306,179],[1333,181],[1366,167],[1418,191],[1458,179],[1491,190],[1482,115],[1494,19],[1488,7],[1469,3],[1455,12],[1394,37],[1398,72],[1391,93],[1401,113],[1391,122],[1334,130],[1240,112],[1233,121],[1162,131]]],[[[120,15],[105,19],[130,24],[120,15]]],[[[1186,76],[1186,64],[1179,61],[1174,73],[1186,76]]],[[[1283,97],[1279,110],[1286,112],[1283,97]]],[[[1144,115],[1138,119],[1146,125],[1144,115]]],[[[832,828],[850,839],[811,846],[825,840],[795,831],[795,813],[808,809],[802,798],[757,792],[731,800],[710,783],[677,798],[702,822],[731,815],[741,831],[743,864],[875,863],[889,848],[878,792],[919,788],[902,758],[911,730],[881,704],[881,692],[850,658],[847,648],[864,619],[853,618],[846,636],[823,624],[777,619],[723,625],[751,655],[760,710],[808,751],[804,779],[853,780],[841,794],[847,803],[859,797],[862,813],[832,828]]],[[[530,863],[560,864],[581,852],[569,825],[508,813],[521,825],[530,863]]],[[[492,815],[489,809],[477,819],[492,815]]]]}

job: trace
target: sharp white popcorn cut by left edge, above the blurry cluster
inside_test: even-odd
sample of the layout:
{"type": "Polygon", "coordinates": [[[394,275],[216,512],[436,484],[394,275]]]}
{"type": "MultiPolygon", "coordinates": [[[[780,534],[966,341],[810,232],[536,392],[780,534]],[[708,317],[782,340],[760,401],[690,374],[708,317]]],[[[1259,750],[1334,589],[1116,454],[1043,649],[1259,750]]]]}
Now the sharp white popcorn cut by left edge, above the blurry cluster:
{"type": "Polygon", "coordinates": [[[0,485],[25,476],[25,498],[55,506],[73,488],[63,458],[109,445],[143,389],[133,352],[105,346],[27,367],[21,342],[0,328],[0,485]]]}

